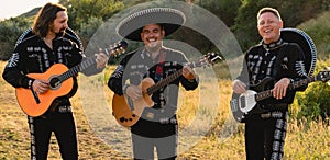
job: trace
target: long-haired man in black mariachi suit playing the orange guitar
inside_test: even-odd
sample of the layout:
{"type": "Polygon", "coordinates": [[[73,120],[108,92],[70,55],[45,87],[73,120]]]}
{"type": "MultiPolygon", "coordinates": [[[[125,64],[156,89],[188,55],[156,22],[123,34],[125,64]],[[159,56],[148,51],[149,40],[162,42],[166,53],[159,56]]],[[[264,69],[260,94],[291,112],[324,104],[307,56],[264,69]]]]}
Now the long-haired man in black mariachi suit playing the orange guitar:
{"type": "MultiPolygon", "coordinates": [[[[46,95],[50,81],[29,77],[29,73],[44,73],[53,65],[63,64],[67,68],[86,59],[80,38],[68,28],[67,9],[61,4],[46,3],[35,18],[32,30],[24,32],[14,47],[13,54],[3,71],[3,79],[14,88],[29,89],[37,96],[46,95]]],[[[84,71],[94,75],[102,71],[108,57],[96,54],[96,64],[84,71]]],[[[56,98],[50,108],[40,116],[28,116],[31,134],[31,159],[47,159],[51,135],[54,132],[61,156],[66,160],[78,159],[76,126],[68,95],[56,98]]]]}

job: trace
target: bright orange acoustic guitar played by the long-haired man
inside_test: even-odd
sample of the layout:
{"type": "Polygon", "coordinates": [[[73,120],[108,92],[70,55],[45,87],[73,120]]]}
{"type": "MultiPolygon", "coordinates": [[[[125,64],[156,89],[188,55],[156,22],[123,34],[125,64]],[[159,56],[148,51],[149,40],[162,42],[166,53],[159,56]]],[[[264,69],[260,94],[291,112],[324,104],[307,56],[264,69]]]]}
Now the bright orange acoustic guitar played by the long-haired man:
{"type": "MultiPolygon", "coordinates": [[[[127,42],[122,41],[113,44],[105,52],[108,57],[123,53],[127,42]]],[[[56,98],[68,95],[74,88],[74,78],[78,72],[96,64],[95,58],[88,58],[79,65],[68,69],[63,64],[55,64],[43,73],[28,73],[33,79],[41,79],[48,82],[48,90],[38,94],[33,89],[16,88],[15,94],[22,111],[29,116],[36,117],[44,114],[56,98]]]]}

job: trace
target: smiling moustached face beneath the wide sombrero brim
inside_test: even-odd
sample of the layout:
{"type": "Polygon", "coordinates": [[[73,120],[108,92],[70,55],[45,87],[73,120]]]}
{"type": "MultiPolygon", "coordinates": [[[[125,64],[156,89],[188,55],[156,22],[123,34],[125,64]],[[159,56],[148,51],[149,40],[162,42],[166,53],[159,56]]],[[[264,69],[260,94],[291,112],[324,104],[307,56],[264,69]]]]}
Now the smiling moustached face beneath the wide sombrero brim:
{"type": "Polygon", "coordinates": [[[160,24],[147,24],[142,28],[141,39],[151,53],[158,50],[163,45],[165,31],[160,24]]]}

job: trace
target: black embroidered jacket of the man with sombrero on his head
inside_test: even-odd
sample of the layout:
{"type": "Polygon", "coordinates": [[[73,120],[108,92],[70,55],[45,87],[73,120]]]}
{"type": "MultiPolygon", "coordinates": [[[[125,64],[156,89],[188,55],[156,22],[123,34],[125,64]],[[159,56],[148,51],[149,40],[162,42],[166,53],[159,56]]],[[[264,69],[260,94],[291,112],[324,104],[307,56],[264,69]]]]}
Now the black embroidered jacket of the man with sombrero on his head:
{"type": "MultiPolygon", "coordinates": [[[[122,87],[128,83],[128,81],[130,84],[139,85],[144,78],[148,77],[156,83],[180,70],[183,65],[187,61],[183,53],[166,47],[163,47],[158,56],[153,60],[151,54],[142,47],[130,53],[121,60],[116,71],[111,75],[108,85],[116,94],[122,95],[122,87]],[[165,54],[164,59],[162,58],[163,54],[165,54]],[[157,71],[160,68],[162,68],[161,72],[157,71]]],[[[147,114],[146,112],[153,112],[156,121],[140,118],[139,122],[131,127],[132,133],[146,137],[166,137],[176,133],[174,125],[161,124],[157,118],[175,116],[179,83],[182,83],[186,90],[194,90],[198,87],[197,80],[189,81],[180,76],[168,85],[155,91],[152,94],[154,106],[151,110],[146,107],[142,114],[145,115],[147,114]]]]}

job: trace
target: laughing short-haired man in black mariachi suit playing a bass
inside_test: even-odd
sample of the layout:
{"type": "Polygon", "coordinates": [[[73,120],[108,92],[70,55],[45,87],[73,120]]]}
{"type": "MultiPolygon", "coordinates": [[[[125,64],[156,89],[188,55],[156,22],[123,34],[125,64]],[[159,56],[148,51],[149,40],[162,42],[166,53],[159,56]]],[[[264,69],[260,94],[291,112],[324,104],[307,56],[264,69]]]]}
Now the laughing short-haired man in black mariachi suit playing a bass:
{"type": "Polygon", "coordinates": [[[271,98],[254,105],[258,112],[244,117],[245,151],[248,160],[277,160],[284,157],[288,105],[296,91],[307,88],[292,90],[288,87],[293,81],[307,78],[308,71],[312,73],[316,53],[301,32],[283,28],[280,15],[273,8],[258,11],[257,30],[263,41],[245,54],[242,72],[233,81],[233,92],[271,91],[271,98]],[[266,82],[268,78],[274,81],[266,82]]]}

